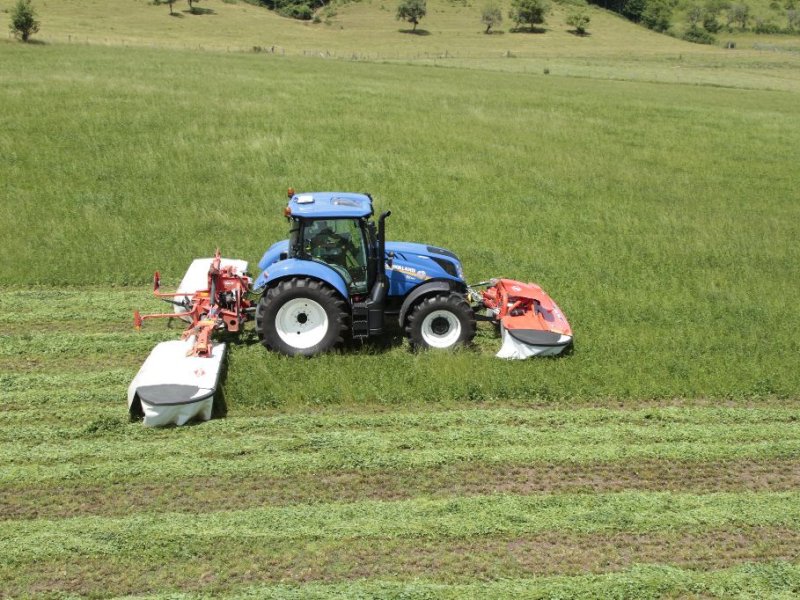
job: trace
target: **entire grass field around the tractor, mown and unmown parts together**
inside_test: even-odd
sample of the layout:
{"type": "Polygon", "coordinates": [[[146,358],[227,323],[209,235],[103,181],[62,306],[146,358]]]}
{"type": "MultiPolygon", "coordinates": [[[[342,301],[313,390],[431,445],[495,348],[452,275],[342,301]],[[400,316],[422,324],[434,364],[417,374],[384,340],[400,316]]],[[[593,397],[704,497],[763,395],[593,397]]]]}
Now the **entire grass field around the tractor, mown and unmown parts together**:
{"type": "Polygon", "coordinates": [[[442,69],[374,39],[138,47],[170,43],[130,20],[99,47],[96,6],[68,4],[47,44],[0,44],[0,597],[800,594],[795,53],[598,33],[595,56],[442,69]],[[539,282],[575,353],[499,361],[481,329],[293,360],[245,336],[227,418],[129,423],[178,334],[131,327],[152,271],[256,261],[290,185],[373,193],[472,281],[539,282]]]}

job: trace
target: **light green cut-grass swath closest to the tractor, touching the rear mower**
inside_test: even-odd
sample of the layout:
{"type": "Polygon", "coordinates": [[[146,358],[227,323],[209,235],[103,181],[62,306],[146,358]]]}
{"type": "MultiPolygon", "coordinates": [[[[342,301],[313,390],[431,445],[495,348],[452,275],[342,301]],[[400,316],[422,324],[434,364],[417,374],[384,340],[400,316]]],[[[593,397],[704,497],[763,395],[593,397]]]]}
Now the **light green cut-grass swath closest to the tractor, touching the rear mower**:
{"type": "Polygon", "coordinates": [[[659,416],[659,411],[649,409],[618,415],[575,411],[566,421],[562,411],[528,417],[538,411],[524,409],[423,412],[405,418],[389,413],[375,419],[291,415],[229,418],[202,428],[153,432],[125,424],[120,408],[111,406],[108,412],[97,411],[84,419],[78,412],[70,414],[79,427],[70,427],[64,414],[61,423],[48,430],[20,424],[30,422],[31,415],[19,414],[2,431],[0,481],[164,481],[424,469],[465,462],[712,461],[785,459],[800,454],[800,436],[791,422],[793,410],[777,420],[758,423],[758,409],[743,409],[740,424],[729,418],[736,411],[708,409],[695,413],[699,424],[680,416],[671,421],[669,412],[659,416]],[[65,440],[71,441],[65,444],[65,440]],[[153,460],[153,456],[169,460],[153,460]]]}

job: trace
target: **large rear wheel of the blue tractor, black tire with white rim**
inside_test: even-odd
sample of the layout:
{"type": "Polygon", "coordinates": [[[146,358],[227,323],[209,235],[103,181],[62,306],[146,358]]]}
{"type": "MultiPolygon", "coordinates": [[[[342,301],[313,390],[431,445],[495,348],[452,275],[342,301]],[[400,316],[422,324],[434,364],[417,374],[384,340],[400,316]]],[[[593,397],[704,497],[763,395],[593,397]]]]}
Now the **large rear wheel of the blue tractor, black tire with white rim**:
{"type": "Polygon", "coordinates": [[[321,281],[306,277],[284,279],[261,296],[256,307],[256,331],[270,350],[287,356],[314,356],[342,342],[347,315],[341,296],[321,281]],[[327,322],[326,328],[319,325],[314,335],[308,335],[306,324],[320,319],[327,322]],[[297,344],[292,343],[292,327],[298,329],[297,344]],[[301,341],[303,336],[308,337],[301,341]]]}

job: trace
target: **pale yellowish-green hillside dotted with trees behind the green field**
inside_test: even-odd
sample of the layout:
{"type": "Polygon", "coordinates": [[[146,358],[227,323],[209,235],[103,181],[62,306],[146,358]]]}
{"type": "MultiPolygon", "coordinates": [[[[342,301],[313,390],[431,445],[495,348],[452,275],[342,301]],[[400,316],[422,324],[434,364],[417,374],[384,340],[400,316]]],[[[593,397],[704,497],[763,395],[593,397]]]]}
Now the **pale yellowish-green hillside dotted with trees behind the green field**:
{"type": "MultiPolygon", "coordinates": [[[[10,4],[2,1],[4,8],[10,4]]],[[[39,8],[37,39],[769,89],[798,89],[800,81],[798,38],[726,35],[738,40],[732,52],[657,34],[596,7],[586,9],[592,20],[585,37],[570,33],[570,9],[558,4],[545,33],[509,32],[504,10],[495,35],[482,33],[478,2],[431,0],[423,35],[404,33],[395,5],[382,0],[334,4],[320,13],[320,23],[283,18],[243,1],[204,0],[202,7],[209,14],[190,15],[178,4],[180,16],[171,17],[166,6],[148,0],[47,2],[39,8]]]]}

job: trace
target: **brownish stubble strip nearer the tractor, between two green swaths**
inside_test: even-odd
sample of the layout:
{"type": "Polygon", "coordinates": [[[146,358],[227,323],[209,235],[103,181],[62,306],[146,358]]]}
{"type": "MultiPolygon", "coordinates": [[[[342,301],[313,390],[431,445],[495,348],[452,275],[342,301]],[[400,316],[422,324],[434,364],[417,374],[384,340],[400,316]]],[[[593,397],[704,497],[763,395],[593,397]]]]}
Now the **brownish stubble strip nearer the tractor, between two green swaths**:
{"type": "Polygon", "coordinates": [[[90,485],[25,482],[0,490],[0,519],[133,513],[205,513],[316,502],[447,498],[490,493],[642,491],[791,491],[800,462],[625,460],[589,464],[467,463],[426,469],[333,471],[285,477],[175,478],[90,485]]]}

